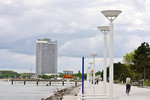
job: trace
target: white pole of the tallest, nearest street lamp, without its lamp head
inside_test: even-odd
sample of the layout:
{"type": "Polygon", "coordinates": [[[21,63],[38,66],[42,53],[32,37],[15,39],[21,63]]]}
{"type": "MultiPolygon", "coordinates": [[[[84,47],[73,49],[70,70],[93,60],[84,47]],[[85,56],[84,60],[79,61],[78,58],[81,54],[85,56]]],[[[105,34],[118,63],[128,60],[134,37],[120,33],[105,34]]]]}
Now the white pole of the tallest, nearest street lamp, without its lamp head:
{"type": "Polygon", "coordinates": [[[113,41],[113,20],[110,20],[110,27],[109,27],[109,34],[110,34],[110,40],[109,40],[109,64],[110,64],[110,68],[109,68],[109,84],[110,84],[110,100],[113,100],[113,78],[114,78],[114,66],[113,66],[113,45],[114,45],[114,41],[113,41]]]}

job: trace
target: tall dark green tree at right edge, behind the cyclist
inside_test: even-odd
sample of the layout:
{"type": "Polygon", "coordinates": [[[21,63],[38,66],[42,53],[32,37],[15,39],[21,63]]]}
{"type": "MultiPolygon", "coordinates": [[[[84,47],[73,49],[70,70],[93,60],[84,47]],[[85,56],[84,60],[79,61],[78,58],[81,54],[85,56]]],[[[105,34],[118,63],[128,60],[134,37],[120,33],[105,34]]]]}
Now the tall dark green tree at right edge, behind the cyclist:
{"type": "Polygon", "coordinates": [[[132,68],[135,69],[136,72],[140,73],[141,76],[144,74],[144,81],[146,82],[146,70],[150,68],[150,46],[148,43],[143,42],[141,46],[139,46],[135,50],[134,54],[134,65],[132,68]]]}

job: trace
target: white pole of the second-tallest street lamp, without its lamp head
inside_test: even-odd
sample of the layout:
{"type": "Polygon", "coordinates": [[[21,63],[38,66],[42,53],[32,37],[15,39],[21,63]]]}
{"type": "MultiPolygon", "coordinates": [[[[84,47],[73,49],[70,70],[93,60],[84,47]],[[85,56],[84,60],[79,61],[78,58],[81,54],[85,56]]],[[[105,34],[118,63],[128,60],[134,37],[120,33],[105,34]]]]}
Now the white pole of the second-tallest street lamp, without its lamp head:
{"type": "Polygon", "coordinates": [[[103,91],[104,94],[106,94],[106,80],[107,80],[107,36],[106,36],[106,32],[104,33],[104,73],[103,73],[103,81],[104,81],[104,85],[103,85],[103,91]]]}

